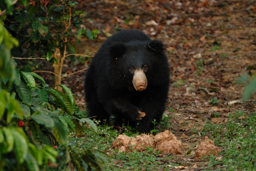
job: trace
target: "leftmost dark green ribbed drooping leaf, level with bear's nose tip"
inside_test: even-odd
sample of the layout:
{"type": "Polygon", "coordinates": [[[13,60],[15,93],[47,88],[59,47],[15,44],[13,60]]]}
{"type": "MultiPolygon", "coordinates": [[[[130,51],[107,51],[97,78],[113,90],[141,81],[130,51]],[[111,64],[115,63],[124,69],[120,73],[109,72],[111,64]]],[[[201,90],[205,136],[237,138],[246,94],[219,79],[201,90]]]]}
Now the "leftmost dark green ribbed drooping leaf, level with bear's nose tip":
{"type": "Polygon", "coordinates": [[[23,81],[20,81],[20,85],[15,85],[15,88],[22,102],[31,105],[31,92],[28,86],[23,81]]]}

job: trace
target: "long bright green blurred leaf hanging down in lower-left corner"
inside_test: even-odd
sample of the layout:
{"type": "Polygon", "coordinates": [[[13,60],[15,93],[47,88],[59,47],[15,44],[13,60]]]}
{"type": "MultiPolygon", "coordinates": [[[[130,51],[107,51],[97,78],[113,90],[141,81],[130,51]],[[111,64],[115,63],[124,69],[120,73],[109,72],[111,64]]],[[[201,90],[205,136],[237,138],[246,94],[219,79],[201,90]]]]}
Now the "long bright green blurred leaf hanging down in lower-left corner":
{"type": "Polygon", "coordinates": [[[23,130],[19,127],[12,127],[12,135],[14,137],[14,152],[18,163],[21,164],[28,154],[28,142],[25,134],[20,134],[23,130]]]}

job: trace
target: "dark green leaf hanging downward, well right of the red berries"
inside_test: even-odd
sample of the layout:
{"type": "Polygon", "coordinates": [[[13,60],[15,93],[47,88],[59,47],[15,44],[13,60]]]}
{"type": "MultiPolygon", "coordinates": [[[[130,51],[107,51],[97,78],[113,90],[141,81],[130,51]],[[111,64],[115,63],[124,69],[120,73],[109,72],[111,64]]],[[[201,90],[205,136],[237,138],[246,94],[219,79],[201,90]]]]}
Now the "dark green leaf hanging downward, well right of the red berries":
{"type": "Polygon", "coordinates": [[[59,120],[52,118],[54,121],[54,127],[52,128],[54,136],[58,143],[66,145],[68,142],[68,131],[66,127],[59,120]]]}

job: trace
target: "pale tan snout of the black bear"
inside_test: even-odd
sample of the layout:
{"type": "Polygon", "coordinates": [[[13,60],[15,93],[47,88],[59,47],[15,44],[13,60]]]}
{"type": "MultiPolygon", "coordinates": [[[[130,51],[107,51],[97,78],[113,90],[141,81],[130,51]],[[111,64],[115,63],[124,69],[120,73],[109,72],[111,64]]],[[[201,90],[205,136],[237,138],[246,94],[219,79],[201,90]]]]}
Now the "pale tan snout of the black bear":
{"type": "Polygon", "coordinates": [[[142,69],[134,71],[132,84],[137,91],[143,91],[147,88],[148,80],[142,69]]]}

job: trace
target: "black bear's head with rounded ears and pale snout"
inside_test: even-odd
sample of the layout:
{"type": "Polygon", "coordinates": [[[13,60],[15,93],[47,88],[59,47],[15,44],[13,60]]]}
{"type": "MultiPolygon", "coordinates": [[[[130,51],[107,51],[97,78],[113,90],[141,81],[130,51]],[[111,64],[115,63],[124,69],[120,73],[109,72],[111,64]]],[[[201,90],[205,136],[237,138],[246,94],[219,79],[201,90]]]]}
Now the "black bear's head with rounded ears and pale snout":
{"type": "Polygon", "coordinates": [[[116,88],[133,86],[136,91],[145,90],[148,84],[160,85],[166,75],[164,66],[168,67],[164,50],[157,40],[113,43],[109,49],[110,83],[116,88]]]}

